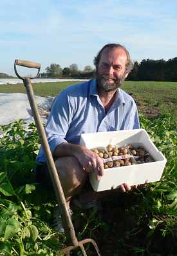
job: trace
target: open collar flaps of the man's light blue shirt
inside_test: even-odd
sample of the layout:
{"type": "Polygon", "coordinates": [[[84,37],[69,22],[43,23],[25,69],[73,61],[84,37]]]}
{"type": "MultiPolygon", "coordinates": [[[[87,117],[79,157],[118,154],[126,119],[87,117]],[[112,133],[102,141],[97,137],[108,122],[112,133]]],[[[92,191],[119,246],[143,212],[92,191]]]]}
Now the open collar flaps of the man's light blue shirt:
{"type": "MultiPolygon", "coordinates": [[[[98,91],[97,91],[97,80],[96,79],[92,79],[90,81],[90,90],[89,90],[89,95],[95,95],[95,96],[99,96],[98,95],[98,91]]],[[[118,90],[116,91],[116,98],[115,98],[115,103],[123,103],[125,104],[125,99],[124,99],[124,95],[122,93],[122,90],[120,88],[118,88],[118,90]]]]}

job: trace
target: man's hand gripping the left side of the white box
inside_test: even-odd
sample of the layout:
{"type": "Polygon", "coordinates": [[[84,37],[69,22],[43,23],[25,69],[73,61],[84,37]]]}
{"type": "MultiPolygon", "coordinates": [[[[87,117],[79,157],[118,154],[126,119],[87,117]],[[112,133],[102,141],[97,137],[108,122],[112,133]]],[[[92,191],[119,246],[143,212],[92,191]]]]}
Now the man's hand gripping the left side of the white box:
{"type": "Polygon", "coordinates": [[[104,173],[104,164],[97,153],[88,150],[88,148],[84,146],[80,146],[79,150],[75,153],[75,156],[85,172],[95,172],[98,181],[100,176],[104,173]]]}

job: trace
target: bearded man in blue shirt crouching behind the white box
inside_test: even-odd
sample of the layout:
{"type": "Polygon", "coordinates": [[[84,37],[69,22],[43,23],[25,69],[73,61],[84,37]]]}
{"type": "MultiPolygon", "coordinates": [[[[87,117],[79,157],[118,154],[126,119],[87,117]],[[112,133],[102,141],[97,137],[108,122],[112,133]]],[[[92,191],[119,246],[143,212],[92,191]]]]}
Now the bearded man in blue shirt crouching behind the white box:
{"type": "MultiPolygon", "coordinates": [[[[82,133],[108,132],[140,128],[133,98],[120,89],[133,65],[129,52],[120,44],[106,44],[97,57],[96,77],[70,86],[57,95],[46,124],[46,135],[55,165],[59,170],[68,208],[73,195],[80,192],[89,172],[97,179],[104,175],[98,155],[79,145],[82,133]]],[[[44,184],[50,181],[44,152],[39,150],[37,178],[44,184]]],[[[129,191],[122,184],[122,192],[129,191]]]]}

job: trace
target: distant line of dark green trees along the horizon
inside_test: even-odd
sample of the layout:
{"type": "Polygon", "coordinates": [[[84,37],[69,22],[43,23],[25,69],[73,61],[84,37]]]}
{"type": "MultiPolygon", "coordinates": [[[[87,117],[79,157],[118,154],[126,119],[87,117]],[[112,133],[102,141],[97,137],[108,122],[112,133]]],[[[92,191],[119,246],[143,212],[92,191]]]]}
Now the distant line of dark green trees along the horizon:
{"type": "MultiPolygon", "coordinates": [[[[46,73],[41,73],[41,77],[52,78],[87,78],[91,79],[95,75],[95,69],[85,66],[84,70],[79,70],[77,64],[73,63],[69,67],[61,68],[61,65],[52,63],[46,68],[46,73]]],[[[177,81],[177,57],[165,61],[164,59],[143,59],[140,63],[133,63],[133,70],[128,75],[129,81],[177,81]]]]}

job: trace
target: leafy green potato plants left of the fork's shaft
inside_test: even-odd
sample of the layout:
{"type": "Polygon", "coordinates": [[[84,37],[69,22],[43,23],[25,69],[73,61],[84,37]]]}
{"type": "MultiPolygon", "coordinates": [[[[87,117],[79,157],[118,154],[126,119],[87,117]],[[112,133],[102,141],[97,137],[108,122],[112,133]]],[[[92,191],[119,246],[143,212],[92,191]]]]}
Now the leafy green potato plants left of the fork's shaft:
{"type": "Polygon", "coordinates": [[[35,125],[21,120],[0,130],[0,255],[55,255],[63,239],[48,225],[55,200],[32,172],[40,146],[35,125]]]}

